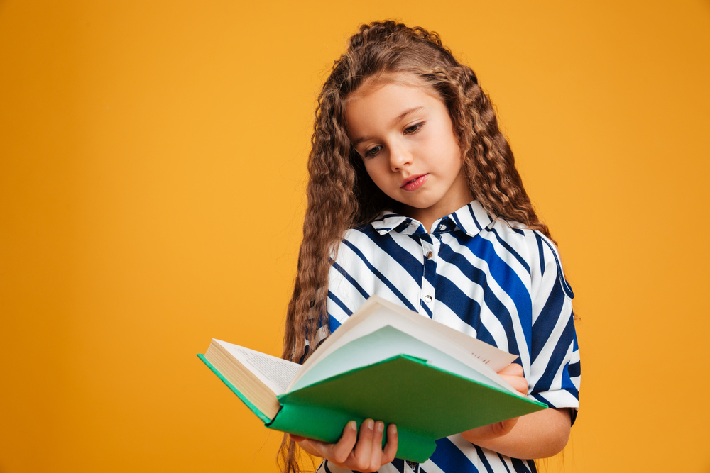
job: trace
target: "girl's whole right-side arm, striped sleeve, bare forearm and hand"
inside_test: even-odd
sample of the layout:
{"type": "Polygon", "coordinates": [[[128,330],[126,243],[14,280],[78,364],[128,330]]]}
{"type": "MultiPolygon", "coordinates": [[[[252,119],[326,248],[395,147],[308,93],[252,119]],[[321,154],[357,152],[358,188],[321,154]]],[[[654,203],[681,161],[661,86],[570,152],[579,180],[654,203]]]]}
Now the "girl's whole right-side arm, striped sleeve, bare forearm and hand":
{"type": "MultiPolygon", "coordinates": [[[[526,230],[525,236],[527,250],[522,252],[530,265],[532,302],[532,319],[525,321],[532,323],[528,355],[535,362],[522,361],[527,366],[527,379],[519,365],[510,365],[499,374],[520,393],[540,395],[548,404],[564,407],[486,425],[464,432],[462,436],[471,443],[510,457],[545,458],[567,445],[572,426],[569,406],[579,405],[579,352],[572,314],[574,294],[564,279],[555,245],[538,232],[526,230]]],[[[525,350],[525,346],[520,350],[525,350]]]]}

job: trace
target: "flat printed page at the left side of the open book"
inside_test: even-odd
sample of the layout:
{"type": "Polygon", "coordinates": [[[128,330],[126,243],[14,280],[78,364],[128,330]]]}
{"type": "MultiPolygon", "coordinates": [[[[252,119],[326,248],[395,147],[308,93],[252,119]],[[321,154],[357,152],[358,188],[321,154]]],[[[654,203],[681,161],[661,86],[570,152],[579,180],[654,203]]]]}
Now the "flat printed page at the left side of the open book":
{"type": "Polygon", "coordinates": [[[256,350],[250,350],[222,340],[214,341],[222,345],[230,355],[239,360],[249,371],[253,372],[277,396],[286,392],[286,387],[301,367],[298,363],[257,352],[256,350]]]}

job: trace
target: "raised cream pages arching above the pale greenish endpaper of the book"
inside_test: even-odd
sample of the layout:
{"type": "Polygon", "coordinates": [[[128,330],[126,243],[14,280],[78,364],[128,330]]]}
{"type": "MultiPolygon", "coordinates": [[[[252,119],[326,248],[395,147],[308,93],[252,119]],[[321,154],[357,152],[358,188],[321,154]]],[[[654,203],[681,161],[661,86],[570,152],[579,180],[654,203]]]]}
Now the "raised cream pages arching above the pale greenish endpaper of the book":
{"type": "Polygon", "coordinates": [[[517,355],[510,355],[508,352],[498,350],[481,340],[476,340],[458,330],[432,321],[430,318],[397,306],[378,296],[368,299],[359,311],[354,313],[315,350],[313,355],[306,360],[299,374],[291,380],[287,390],[290,391],[296,384],[300,385],[298,382],[305,373],[339,347],[387,325],[418,340],[425,340],[429,345],[454,360],[459,360],[484,374],[494,384],[518,394],[496,373],[496,371],[510,365],[517,355]]]}

